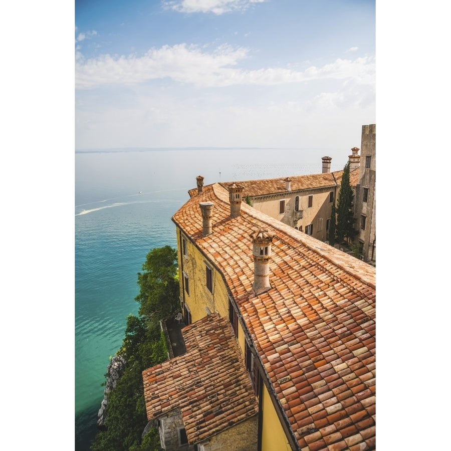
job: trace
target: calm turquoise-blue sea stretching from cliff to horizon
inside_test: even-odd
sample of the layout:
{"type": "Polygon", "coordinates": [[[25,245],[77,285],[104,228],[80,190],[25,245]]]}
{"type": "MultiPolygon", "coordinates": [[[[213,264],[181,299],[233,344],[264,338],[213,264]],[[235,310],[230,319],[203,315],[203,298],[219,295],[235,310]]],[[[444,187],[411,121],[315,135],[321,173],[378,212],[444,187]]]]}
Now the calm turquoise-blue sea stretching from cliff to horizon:
{"type": "Polygon", "coordinates": [[[111,357],[137,314],[147,253],[176,247],[172,215],[204,184],[341,170],[349,149],[103,149],[75,153],[75,449],[89,451],[111,357]]]}

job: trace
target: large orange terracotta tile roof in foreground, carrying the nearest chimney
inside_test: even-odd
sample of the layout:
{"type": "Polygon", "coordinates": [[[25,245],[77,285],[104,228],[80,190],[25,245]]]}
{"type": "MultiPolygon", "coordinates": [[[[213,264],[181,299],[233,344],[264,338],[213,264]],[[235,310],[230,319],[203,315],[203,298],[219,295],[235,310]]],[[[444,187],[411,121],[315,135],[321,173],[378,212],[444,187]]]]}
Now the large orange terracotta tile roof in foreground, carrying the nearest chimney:
{"type": "Polygon", "coordinates": [[[173,221],[223,274],[299,446],[374,449],[375,268],[245,202],[232,218],[218,183],[173,221]],[[199,201],[214,203],[207,237],[199,201]],[[257,228],[276,236],[272,288],[259,296],[249,236],[257,228]]]}

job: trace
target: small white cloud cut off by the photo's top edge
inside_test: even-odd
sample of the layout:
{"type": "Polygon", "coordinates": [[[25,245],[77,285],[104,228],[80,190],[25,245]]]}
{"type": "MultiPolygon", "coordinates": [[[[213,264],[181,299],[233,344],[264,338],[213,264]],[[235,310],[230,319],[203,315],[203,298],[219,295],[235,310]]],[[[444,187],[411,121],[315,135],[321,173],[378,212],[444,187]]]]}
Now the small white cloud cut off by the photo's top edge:
{"type": "Polygon", "coordinates": [[[163,5],[179,13],[213,13],[221,15],[231,11],[245,11],[266,0],[168,0],[163,5]]]}

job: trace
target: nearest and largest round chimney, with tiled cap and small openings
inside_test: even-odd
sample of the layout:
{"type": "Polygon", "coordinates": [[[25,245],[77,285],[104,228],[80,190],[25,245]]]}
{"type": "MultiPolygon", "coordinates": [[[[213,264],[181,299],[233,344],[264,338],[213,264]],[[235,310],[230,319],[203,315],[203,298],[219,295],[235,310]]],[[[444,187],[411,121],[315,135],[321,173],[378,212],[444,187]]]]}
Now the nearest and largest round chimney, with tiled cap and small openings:
{"type": "Polygon", "coordinates": [[[268,235],[264,229],[256,229],[249,235],[252,238],[254,257],[254,288],[255,294],[265,293],[271,288],[269,282],[269,261],[271,259],[271,242],[275,235],[268,235]]]}

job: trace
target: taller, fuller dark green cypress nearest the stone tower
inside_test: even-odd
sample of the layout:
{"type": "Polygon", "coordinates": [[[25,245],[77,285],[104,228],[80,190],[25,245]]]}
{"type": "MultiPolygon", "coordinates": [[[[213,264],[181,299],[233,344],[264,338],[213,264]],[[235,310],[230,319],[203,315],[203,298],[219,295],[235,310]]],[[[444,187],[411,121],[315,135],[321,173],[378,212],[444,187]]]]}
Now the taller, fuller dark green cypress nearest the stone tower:
{"type": "Polygon", "coordinates": [[[357,234],[357,231],[354,229],[354,190],[349,179],[349,167],[350,163],[348,161],[343,168],[340,193],[338,194],[336,239],[340,244],[345,240],[352,241],[357,234]]]}

